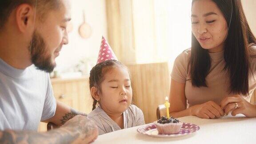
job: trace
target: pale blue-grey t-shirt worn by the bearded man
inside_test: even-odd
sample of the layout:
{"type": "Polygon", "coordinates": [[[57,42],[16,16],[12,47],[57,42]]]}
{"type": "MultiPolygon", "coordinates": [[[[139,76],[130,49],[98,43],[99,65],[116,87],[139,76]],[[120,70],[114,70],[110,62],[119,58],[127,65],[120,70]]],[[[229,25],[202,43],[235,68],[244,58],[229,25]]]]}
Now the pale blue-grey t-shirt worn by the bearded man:
{"type": "Polygon", "coordinates": [[[40,121],[54,116],[56,100],[49,74],[16,69],[0,59],[0,130],[36,131],[40,121]]]}

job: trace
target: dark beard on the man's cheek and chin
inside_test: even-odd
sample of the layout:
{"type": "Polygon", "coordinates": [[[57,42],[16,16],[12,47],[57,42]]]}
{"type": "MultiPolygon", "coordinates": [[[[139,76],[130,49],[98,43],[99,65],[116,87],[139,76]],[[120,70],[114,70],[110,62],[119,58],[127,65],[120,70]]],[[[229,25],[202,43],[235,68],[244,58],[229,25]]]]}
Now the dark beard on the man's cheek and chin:
{"type": "Polygon", "coordinates": [[[30,42],[29,51],[32,63],[40,70],[52,72],[56,64],[52,63],[52,56],[48,54],[46,43],[38,32],[34,32],[30,42]]]}

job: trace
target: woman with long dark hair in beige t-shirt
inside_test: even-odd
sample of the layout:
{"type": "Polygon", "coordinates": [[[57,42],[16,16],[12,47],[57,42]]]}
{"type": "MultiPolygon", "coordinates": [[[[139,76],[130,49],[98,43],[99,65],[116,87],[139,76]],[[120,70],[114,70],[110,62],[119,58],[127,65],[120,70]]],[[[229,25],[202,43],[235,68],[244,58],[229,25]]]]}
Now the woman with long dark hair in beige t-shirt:
{"type": "Polygon", "coordinates": [[[174,117],[256,117],[249,103],[256,88],[256,39],[240,0],[192,1],[192,48],[172,69],[170,114],[174,117]]]}

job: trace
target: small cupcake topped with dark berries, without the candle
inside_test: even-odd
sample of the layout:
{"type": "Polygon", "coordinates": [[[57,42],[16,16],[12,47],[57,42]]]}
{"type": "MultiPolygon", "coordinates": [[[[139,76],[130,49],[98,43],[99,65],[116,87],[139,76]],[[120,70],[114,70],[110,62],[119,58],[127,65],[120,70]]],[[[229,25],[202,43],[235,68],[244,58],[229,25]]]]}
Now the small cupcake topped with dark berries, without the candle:
{"type": "Polygon", "coordinates": [[[180,122],[180,120],[173,118],[172,116],[169,119],[162,116],[160,120],[157,120],[156,128],[158,130],[158,134],[170,135],[178,133],[182,125],[183,123],[180,122]]]}

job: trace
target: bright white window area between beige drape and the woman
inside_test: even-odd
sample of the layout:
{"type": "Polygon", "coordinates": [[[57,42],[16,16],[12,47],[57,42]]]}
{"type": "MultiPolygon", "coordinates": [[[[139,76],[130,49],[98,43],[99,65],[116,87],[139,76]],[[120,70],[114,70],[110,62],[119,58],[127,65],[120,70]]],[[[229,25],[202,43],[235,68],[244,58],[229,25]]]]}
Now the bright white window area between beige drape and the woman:
{"type": "Polygon", "coordinates": [[[191,2],[133,1],[136,63],[169,61],[172,65],[176,56],[191,47],[191,2]]]}

